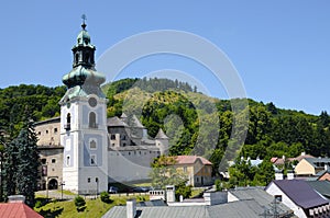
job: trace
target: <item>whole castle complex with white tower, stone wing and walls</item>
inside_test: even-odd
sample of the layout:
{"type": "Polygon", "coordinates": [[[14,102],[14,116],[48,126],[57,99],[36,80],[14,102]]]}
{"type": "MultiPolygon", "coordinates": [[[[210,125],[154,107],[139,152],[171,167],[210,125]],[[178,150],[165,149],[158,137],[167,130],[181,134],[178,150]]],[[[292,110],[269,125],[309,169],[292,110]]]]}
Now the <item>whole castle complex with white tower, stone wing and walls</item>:
{"type": "Polygon", "coordinates": [[[61,117],[36,123],[35,131],[40,187],[65,184],[64,190],[92,194],[108,191],[110,182],[148,179],[151,162],[165,154],[168,138],[162,129],[150,138],[135,115],[107,118],[108,100],[100,87],[106,77],[95,68],[96,47],[85,22],[81,27],[72,49],[73,69],[63,77],[67,91],[59,101],[61,117]]]}

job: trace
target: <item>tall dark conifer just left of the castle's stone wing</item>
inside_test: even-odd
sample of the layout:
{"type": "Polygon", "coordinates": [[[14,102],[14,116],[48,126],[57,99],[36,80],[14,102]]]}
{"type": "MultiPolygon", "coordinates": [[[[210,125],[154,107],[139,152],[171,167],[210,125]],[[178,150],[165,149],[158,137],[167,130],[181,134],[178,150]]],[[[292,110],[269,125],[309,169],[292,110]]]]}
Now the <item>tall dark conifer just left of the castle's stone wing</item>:
{"type": "Polygon", "coordinates": [[[18,194],[25,196],[26,205],[34,206],[34,192],[37,185],[38,151],[37,137],[33,122],[26,118],[23,128],[13,144],[18,148],[16,188],[18,194]]]}

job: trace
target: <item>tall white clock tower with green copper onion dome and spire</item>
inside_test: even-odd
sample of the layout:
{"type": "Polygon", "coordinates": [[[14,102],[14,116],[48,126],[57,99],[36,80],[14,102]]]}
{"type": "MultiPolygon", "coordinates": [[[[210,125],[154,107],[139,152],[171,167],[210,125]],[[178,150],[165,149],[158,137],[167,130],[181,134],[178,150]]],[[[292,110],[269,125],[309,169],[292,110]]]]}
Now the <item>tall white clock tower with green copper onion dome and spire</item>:
{"type": "Polygon", "coordinates": [[[67,92],[59,102],[63,181],[65,190],[96,194],[108,190],[107,99],[100,88],[106,77],[95,69],[96,47],[82,19],[72,49],[73,69],[63,77],[67,92]]]}

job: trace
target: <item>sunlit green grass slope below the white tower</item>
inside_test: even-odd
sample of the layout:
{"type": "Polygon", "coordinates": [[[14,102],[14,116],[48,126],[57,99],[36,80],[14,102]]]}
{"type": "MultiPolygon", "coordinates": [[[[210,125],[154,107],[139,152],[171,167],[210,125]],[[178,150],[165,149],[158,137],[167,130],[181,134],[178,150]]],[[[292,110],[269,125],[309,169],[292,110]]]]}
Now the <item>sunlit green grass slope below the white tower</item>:
{"type": "MultiPolygon", "coordinates": [[[[135,196],[134,196],[135,197],[135,196]]],[[[121,196],[121,197],[111,197],[113,200],[111,204],[106,204],[101,202],[100,198],[97,199],[86,199],[86,209],[85,211],[78,213],[75,206],[74,200],[69,202],[51,202],[43,207],[34,208],[35,211],[40,213],[45,218],[72,218],[72,217],[94,217],[99,218],[102,217],[110,208],[116,205],[124,205],[128,198],[132,198],[132,196],[121,196]]],[[[148,200],[148,196],[136,196],[138,202],[148,200]]],[[[42,200],[44,198],[38,198],[42,200]]]]}

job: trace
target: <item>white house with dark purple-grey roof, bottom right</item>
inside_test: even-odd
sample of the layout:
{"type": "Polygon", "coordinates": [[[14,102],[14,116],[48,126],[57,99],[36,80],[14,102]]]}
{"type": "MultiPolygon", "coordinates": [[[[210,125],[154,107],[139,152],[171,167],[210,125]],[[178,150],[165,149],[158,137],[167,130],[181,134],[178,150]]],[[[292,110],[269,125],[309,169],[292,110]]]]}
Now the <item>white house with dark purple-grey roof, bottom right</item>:
{"type": "Polygon", "coordinates": [[[317,193],[306,181],[275,180],[267,185],[265,191],[293,209],[299,218],[330,217],[329,200],[317,193]]]}

